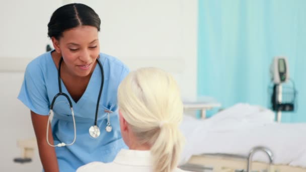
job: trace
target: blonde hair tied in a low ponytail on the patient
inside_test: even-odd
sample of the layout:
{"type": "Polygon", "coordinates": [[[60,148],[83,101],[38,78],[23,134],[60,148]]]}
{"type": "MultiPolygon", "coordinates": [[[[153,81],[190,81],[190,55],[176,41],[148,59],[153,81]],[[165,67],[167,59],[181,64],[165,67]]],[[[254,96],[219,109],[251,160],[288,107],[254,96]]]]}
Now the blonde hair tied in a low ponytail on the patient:
{"type": "Polygon", "coordinates": [[[173,171],[183,144],[183,103],[175,79],[158,68],[131,72],[119,85],[118,104],[138,141],[151,146],[154,171],[173,171]]]}

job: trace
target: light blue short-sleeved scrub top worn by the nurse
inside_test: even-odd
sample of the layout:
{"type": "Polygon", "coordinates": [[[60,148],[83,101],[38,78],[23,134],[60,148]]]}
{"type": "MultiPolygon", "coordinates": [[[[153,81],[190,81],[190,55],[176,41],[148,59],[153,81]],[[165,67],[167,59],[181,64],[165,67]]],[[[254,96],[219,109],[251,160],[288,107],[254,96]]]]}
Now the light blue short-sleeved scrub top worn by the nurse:
{"type": "MultiPolygon", "coordinates": [[[[60,171],[75,171],[81,165],[92,161],[111,162],[124,144],[118,120],[117,89],[129,70],[118,59],[100,53],[104,69],[104,86],[99,104],[97,125],[101,130],[98,138],[89,135],[89,128],[94,125],[96,104],[101,85],[101,69],[96,65],[85,93],[78,102],[74,102],[65,85],[61,82],[62,92],[66,93],[73,106],[77,139],[71,146],[55,147],[60,171]],[[107,114],[104,110],[113,111],[110,123],[113,128],[106,132],[107,114]]],[[[51,52],[42,54],[31,61],[25,71],[24,81],[18,99],[31,111],[48,115],[53,97],[59,92],[57,69],[51,52]]],[[[56,99],[53,107],[54,117],[51,123],[54,144],[73,140],[73,121],[69,106],[64,97],[56,99]]],[[[46,124],[47,125],[47,124],[46,124]]],[[[103,170],[103,169],[102,169],[103,170]]]]}

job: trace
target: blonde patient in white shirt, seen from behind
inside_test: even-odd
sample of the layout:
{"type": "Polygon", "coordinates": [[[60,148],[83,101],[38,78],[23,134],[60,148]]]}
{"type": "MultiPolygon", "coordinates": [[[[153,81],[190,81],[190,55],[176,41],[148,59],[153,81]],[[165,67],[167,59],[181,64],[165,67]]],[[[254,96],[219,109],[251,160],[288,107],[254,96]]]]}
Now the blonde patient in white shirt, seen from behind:
{"type": "Polygon", "coordinates": [[[183,136],[183,104],[175,79],[158,68],[129,73],[118,88],[121,149],[111,163],[92,162],[77,171],[184,171],[177,167],[183,136]]]}

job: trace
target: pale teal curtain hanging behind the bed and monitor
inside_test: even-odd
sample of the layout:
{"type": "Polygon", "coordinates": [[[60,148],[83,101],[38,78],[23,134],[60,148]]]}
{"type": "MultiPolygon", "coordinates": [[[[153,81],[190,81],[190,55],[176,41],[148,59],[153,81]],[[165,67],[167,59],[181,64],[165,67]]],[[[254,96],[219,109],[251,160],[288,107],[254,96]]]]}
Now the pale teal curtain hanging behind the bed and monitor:
{"type": "Polygon", "coordinates": [[[286,56],[298,94],[282,122],[306,122],[306,1],[198,1],[198,96],[269,107],[270,64],[286,56]]]}

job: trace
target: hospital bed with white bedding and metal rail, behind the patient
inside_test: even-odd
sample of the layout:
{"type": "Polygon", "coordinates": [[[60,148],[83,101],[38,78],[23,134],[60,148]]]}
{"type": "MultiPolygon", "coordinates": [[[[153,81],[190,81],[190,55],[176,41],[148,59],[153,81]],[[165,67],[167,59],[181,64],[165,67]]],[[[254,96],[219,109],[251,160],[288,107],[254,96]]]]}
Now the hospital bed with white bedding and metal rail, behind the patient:
{"type": "Polygon", "coordinates": [[[181,129],[183,169],[306,172],[306,124],[276,123],[265,108],[238,104],[206,120],[184,116],[181,129]]]}

